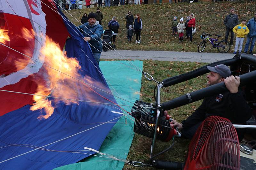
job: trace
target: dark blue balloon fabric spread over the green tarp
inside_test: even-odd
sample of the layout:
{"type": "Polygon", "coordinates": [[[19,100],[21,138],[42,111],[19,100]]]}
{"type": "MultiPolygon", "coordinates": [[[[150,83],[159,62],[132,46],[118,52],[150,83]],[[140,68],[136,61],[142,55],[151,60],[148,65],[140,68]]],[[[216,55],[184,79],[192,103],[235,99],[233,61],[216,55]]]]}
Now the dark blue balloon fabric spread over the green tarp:
{"type": "MultiPolygon", "coordinates": [[[[60,10],[59,12],[66,18],[60,10]]],[[[37,119],[44,114],[44,109],[31,111],[30,105],[1,116],[0,169],[53,169],[76,163],[90,156],[89,154],[94,154],[83,151],[84,147],[99,150],[108,132],[119,117],[123,116],[116,113],[120,112],[118,106],[111,105],[116,100],[101,74],[90,46],[74,25],[65,19],[63,22],[71,35],[65,46],[67,56],[76,57],[81,66],[81,78],[90,77],[92,82],[86,83],[94,86],[77,81],[76,87],[72,87],[77,89],[76,99],[90,101],[93,94],[94,102],[109,104],[80,101],[78,104],[66,105],[63,102],[54,103],[49,98],[55,109],[47,119],[37,119]],[[111,123],[106,123],[108,121],[111,123]],[[23,153],[26,154],[19,156],[23,153]],[[18,157],[7,160],[15,156],[18,157]]]]}

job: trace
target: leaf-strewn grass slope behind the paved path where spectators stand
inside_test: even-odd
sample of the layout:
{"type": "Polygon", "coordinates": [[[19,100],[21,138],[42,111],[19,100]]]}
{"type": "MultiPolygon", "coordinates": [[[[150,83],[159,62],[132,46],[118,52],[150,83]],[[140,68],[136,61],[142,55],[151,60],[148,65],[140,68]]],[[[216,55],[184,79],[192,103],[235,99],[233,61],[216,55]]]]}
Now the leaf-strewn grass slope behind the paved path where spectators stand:
{"type": "MultiPolygon", "coordinates": [[[[117,17],[120,24],[118,30],[116,47],[119,50],[157,50],[157,51],[186,51],[196,52],[197,46],[201,42],[200,35],[202,31],[222,35],[220,40],[225,39],[225,26],[223,20],[230,13],[230,8],[234,7],[239,19],[245,18],[247,21],[254,17],[256,11],[255,1],[242,2],[216,2],[216,3],[179,3],[179,4],[148,4],[148,5],[124,5],[100,8],[103,13],[102,26],[107,29],[108,22],[113,16],[117,17]],[[131,44],[125,39],[125,15],[131,11],[134,18],[137,13],[141,15],[143,29],[141,31],[141,44],[135,45],[135,36],[131,44]],[[193,35],[194,42],[184,39],[179,44],[179,36],[172,36],[171,23],[174,16],[184,20],[190,13],[196,17],[197,33],[193,35]]],[[[82,15],[86,12],[96,12],[96,8],[86,8],[81,10],[68,11],[77,20],[81,21],[82,15]]],[[[75,25],[81,25],[69,14],[65,15],[75,25]]],[[[240,24],[240,21],[239,21],[240,24]]],[[[230,39],[229,39],[230,40],[230,39]]],[[[245,40],[244,40],[245,43],[245,40]]],[[[231,46],[230,53],[234,51],[235,46],[231,46]]],[[[211,44],[207,43],[204,52],[218,53],[217,49],[211,49],[211,44]]],[[[254,52],[255,48],[254,48],[254,52]]]]}

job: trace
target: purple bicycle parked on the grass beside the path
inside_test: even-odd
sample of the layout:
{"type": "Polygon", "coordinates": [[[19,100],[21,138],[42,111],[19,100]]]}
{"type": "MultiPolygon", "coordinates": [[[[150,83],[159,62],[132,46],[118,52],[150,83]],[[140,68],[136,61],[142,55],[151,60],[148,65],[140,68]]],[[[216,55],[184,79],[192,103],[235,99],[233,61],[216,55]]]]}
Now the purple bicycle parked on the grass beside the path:
{"type": "Polygon", "coordinates": [[[201,35],[201,39],[203,39],[202,42],[200,42],[200,44],[198,45],[197,51],[199,53],[202,53],[206,47],[206,42],[207,40],[209,40],[212,44],[212,48],[216,48],[218,49],[218,51],[220,53],[227,53],[230,50],[230,43],[228,41],[222,40],[220,42],[218,42],[219,37],[221,37],[220,35],[215,35],[218,38],[217,39],[213,39],[209,36],[213,36],[211,34],[205,33],[203,32],[203,34],[201,35]]]}

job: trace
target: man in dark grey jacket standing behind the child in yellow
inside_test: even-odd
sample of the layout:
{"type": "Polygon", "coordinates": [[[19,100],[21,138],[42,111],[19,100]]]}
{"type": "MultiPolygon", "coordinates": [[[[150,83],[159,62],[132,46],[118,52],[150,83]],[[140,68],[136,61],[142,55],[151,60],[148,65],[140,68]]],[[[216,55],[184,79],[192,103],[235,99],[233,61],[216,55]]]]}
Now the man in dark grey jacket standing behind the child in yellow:
{"type": "Polygon", "coordinates": [[[238,25],[238,17],[235,14],[235,9],[231,8],[230,9],[230,14],[227,15],[227,17],[224,20],[224,25],[226,26],[226,35],[225,35],[225,40],[228,41],[228,34],[230,32],[230,45],[233,45],[233,40],[234,40],[234,32],[233,28],[238,25]]]}

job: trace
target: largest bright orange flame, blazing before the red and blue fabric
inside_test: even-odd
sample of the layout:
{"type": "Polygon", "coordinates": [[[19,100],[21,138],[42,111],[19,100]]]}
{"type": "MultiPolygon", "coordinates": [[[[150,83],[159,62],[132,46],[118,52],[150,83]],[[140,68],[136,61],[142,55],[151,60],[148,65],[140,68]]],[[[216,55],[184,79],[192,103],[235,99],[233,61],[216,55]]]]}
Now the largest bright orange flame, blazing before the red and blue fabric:
{"type": "MultiPolygon", "coordinates": [[[[74,88],[74,79],[72,77],[78,78],[79,74],[77,72],[80,69],[78,61],[74,58],[68,58],[63,52],[60,50],[60,46],[52,41],[48,36],[45,39],[45,45],[41,49],[42,56],[44,58],[44,64],[49,67],[44,66],[44,77],[46,77],[45,85],[38,85],[36,95],[48,96],[52,93],[52,96],[60,97],[60,98],[76,98],[77,91],[74,88]],[[60,73],[60,72],[64,73],[60,73]],[[68,74],[70,76],[67,76],[68,74]],[[48,86],[46,88],[45,86],[48,86]]],[[[42,59],[41,56],[41,59],[42,59]]],[[[52,107],[51,101],[45,99],[43,96],[33,96],[34,101],[36,102],[30,110],[38,110],[44,108],[46,115],[41,115],[38,118],[47,119],[50,117],[54,111],[52,107]]],[[[54,99],[55,102],[60,101],[60,99],[54,99]]],[[[77,103],[73,100],[63,100],[66,104],[70,104],[71,102],[77,103]]]]}

